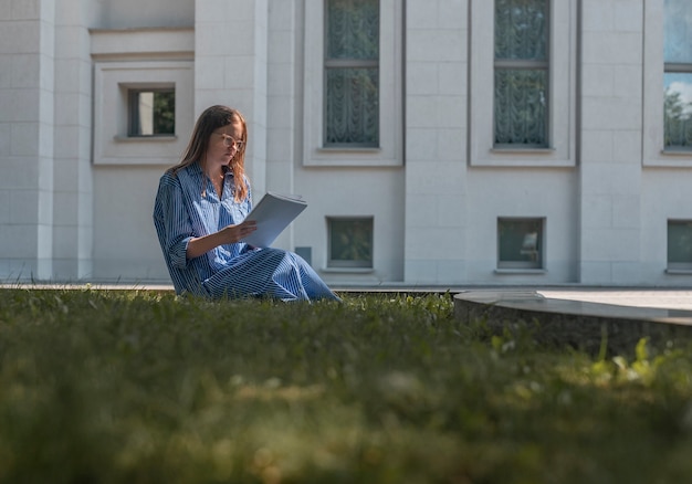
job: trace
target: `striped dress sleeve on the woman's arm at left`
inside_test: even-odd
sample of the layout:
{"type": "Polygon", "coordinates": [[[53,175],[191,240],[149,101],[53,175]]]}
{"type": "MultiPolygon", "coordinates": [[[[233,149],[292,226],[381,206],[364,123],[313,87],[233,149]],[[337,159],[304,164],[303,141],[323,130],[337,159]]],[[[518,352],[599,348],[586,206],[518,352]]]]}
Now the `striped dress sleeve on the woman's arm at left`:
{"type": "Polygon", "coordinates": [[[161,177],[156,193],[154,225],[168,264],[186,269],[188,265],[186,252],[192,239],[192,225],[182,201],[180,181],[168,172],[161,177]]]}

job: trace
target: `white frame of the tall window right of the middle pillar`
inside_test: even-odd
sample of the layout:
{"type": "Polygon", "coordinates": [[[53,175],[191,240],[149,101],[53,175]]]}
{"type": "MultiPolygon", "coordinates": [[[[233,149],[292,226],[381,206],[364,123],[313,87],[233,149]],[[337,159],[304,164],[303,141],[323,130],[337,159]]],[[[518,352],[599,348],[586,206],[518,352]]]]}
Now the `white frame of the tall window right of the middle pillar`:
{"type": "Polygon", "coordinates": [[[470,0],[470,166],[576,166],[577,1],[548,0],[547,9],[547,146],[495,146],[495,2],[470,0]]]}

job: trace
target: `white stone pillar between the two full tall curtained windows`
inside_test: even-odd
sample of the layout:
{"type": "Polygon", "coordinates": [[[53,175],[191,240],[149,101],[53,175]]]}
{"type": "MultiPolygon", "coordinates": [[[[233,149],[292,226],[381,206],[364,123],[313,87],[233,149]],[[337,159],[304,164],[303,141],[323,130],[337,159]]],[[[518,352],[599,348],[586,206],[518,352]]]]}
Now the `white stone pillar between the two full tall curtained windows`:
{"type": "Polygon", "coordinates": [[[466,1],[406,2],[408,284],[465,278],[468,10],[466,1]]]}

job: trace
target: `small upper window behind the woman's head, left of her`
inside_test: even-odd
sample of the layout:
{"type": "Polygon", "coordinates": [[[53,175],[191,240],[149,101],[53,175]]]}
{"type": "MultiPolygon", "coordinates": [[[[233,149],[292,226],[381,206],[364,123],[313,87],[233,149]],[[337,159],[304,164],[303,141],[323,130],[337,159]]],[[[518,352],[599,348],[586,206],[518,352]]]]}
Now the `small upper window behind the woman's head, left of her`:
{"type": "Polygon", "coordinates": [[[128,91],[127,136],[174,136],[176,92],[174,88],[128,91]]]}

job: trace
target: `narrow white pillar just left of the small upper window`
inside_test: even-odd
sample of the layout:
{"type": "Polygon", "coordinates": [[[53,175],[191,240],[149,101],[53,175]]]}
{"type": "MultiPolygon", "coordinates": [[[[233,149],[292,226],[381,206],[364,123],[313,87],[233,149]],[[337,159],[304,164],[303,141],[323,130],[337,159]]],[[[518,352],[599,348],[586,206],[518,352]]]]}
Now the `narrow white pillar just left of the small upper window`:
{"type": "Polygon", "coordinates": [[[90,0],[57,0],[55,17],[55,152],[53,278],[92,274],[92,62],[90,0]]]}

